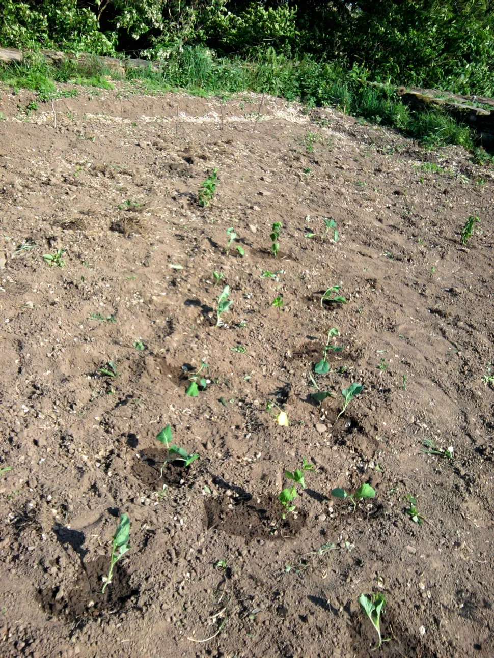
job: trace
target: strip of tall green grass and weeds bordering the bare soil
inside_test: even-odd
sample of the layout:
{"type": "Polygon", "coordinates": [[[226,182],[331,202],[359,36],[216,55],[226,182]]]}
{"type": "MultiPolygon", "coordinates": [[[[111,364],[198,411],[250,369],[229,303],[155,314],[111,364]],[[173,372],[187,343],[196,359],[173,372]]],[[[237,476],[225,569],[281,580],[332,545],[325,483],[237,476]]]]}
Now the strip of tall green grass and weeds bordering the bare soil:
{"type": "MultiPolygon", "coordinates": [[[[41,99],[55,90],[54,82],[76,82],[108,87],[111,71],[99,58],[67,60],[50,66],[40,57],[0,68],[0,81],[14,88],[33,89],[41,99]]],[[[300,100],[310,107],[333,106],[353,116],[397,128],[429,147],[461,144],[473,148],[468,126],[439,110],[411,111],[391,86],[366,84],[364,68],[348,68],[341,61],[321,63],[277,55],[273,49],[250,59],[216,57],[204,47],[173,51],[159,67],[126,69],[126,80],[141,80],[150,90],[186,89],[200,95],[256,91],[300,100]]]]}

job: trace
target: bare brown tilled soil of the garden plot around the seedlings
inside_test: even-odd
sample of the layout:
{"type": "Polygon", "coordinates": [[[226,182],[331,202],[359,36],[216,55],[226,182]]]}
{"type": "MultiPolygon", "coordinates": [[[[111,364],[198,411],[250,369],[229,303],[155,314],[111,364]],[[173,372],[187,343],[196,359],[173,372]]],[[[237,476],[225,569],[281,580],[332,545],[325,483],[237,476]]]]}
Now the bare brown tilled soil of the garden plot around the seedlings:
{"type": "Polygon", "coordinates": [[[249,95],[223,131],[214,99],[126,94],[122,117],[116,91],[80,88],[56,101],[56,130],[30,100],[0,102],[0,655],[491,658],[493,176],[461,149],[275,99],[255,132],[249,95]],[[468,215],[481,232],[464,248],[468,215]],[[229,226],[243,258],[223,253],[229,226]],[[49,267],[59,248],[67,265],[49,267]],[[219,328],[213,270],[234,302],[219,328]],[[321,307],[334,284],[348,303],[321,307]],[[333,326],[344,351],[316,376],[334,393],[318,407],[308,372],[333,326]],[[188,397],[202,359],[211,383],[188,397]],[[336,421],[353,381],[364,392],[336,421]],[[160,478],[167,423],[200,459],[160,478]],[[315,470],[283,522],[302,455],[315,470]],[[354,513],[331,498],[363,482],[377,497],[354,513]],[[123,512],[132,548],[101,595],[123,512]],[[371,654],[357,599],[379,591],[391,641],[371,654]]]}

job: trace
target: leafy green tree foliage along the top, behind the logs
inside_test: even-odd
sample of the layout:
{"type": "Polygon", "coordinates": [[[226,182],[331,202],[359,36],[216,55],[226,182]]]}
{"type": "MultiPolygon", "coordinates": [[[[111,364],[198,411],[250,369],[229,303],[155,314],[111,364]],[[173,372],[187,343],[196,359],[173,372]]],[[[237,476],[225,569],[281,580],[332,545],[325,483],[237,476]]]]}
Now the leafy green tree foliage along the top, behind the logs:
{"type": "Polygon", "coordinates": [[[494,94],[494,0],[3,0],[0,42],[163,59],[314,56],[377,81],[494,94]]]}

